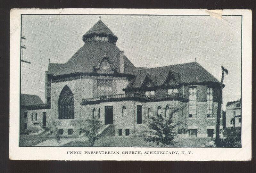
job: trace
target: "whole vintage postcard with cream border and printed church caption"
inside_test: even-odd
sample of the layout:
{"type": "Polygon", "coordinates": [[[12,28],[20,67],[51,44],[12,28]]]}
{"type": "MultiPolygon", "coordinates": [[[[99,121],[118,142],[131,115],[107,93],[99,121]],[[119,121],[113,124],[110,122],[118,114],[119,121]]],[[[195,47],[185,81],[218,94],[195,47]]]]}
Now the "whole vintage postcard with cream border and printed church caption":
{"type": "Polygon", "coordinates": [[[252,12],[12,9],[10,159],[248,161],[252,12]]]}

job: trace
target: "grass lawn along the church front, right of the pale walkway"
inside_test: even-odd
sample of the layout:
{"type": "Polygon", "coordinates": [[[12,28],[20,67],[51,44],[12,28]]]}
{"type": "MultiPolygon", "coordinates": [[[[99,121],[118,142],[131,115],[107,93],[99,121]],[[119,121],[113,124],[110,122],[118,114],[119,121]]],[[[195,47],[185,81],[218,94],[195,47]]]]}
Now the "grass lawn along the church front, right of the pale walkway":
{"type": "MultiPolygon", "coordinates": [[[[202,147],[203,144],[211,141],[211,138],[176,138],[178,144],[173,147],[202,147]]],[[[72,141],[63,145],[65,147],[87,147],[89,144],[86,141],[72,141]]],[[[95,141],[94,146],[101,147],[156,147],[152,142],[144,141],[143,137],[130,136],[130,137],[113,137],[107,136],[95,141]]]]}

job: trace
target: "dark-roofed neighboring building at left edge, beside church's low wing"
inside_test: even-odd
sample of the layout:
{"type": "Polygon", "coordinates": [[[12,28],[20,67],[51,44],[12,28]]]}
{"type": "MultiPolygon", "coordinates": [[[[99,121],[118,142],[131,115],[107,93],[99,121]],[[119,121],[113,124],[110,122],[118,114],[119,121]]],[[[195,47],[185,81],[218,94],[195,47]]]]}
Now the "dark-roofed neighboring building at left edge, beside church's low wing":
{"type": "Polygon", "coordinates": [[[44,104],[38,95],[21,94],[20,133],[28,128],[28,109],[34,104],[44,104]]]}

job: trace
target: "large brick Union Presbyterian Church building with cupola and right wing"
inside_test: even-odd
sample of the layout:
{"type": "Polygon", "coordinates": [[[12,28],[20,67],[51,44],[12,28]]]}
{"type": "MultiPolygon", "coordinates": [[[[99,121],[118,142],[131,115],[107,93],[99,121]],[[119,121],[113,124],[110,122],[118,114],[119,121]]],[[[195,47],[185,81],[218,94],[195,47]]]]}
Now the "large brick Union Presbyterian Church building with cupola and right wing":
{"type": "Polygon", "coordinates": [[[180,136],[215,135],[220,82],[200,64],[135,67],[101,20],[82,39],[84,45],[69,61],[49,63],[47,103],[29,106],[27,128],[54,124],[62,135],[78,136],[86,119],[97,117],[101,133],[139,136],[145,117],[168,117],[173,107],[186,105],[175,115],[186,124],[180,136]]]}

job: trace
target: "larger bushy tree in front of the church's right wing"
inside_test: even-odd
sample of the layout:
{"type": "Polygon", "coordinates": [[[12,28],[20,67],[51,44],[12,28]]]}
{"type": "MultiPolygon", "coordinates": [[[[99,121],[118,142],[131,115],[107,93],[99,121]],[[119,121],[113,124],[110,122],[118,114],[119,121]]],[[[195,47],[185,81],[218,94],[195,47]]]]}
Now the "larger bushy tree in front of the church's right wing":
{"type": "Polygon", "coordinates": [[[179,133],[186,132],[186,124],[178,116],[178,113],[184,108],[185,105],[168,108],[169,115],[167,116],[163,113],[152,112],[144,121],[148,126],[148,129],[144,131],[144,140],[160,146],[177,144],[174,139],[178,137],[179,133]]]}

